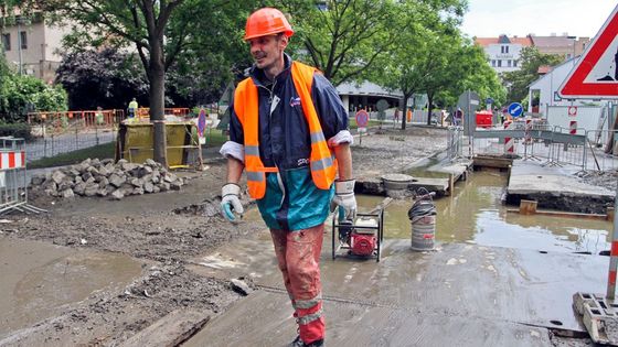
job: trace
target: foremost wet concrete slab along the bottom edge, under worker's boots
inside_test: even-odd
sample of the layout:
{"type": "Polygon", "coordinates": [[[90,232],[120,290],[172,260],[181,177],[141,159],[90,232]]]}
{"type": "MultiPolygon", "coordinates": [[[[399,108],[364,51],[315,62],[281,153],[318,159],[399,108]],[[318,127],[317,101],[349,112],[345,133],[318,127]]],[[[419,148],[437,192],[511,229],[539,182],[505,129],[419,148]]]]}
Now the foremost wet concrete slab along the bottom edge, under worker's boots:
{"type": "MultiPolygon", "coordinates": [[[[185,343],[198,346],[287,346],[296,324],[287,294],[260,291],[237,302],[185,343]]],[[[327,300],[328,346],[550,346],[545,328],[483,317],[327,300]]]]}

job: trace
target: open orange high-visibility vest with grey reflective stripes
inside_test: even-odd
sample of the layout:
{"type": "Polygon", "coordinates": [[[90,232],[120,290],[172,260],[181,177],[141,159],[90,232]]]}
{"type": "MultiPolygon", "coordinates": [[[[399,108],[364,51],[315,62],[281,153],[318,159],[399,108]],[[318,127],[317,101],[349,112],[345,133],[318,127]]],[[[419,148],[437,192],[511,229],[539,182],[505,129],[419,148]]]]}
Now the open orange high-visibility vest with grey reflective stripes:
{"type": "MultiPolygon", "coordinates": [[[[337,175],[337,161],[329,149],[313,100],[311,99],[311,85],[313,83],[315,67],[292,62],[291,77],[296,91],[300,97],[302,111],[311,138],[311,155],[309,165],[311,177],[320,189],[329,189],[337,175]]],[[[260,199],[266,194],[266,173],[278,172],[277,167],[266,167],[259,159],[259,120],[258,120],[258,93],[252,78],[246,78],[238,84],[234,94],[234,111],[243,126],[245,133],[245,170],[251,197],[260,199]]]]}

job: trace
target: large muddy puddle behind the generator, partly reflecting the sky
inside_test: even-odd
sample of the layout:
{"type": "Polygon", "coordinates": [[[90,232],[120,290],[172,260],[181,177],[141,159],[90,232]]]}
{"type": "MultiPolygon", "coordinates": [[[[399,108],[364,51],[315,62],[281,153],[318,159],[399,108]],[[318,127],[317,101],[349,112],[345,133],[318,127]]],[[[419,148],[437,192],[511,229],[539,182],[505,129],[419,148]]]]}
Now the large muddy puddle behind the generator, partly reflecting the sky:
{"type": "MultiPolygon", "coordinates": [[[[420,175],[415,172],[414,174],[420,175]]],[[[428,176],[423,174],[423,176],[428,176]]],[[[452,196],[436,199],[436,239],[440,242],[471,242],[481,246],[535,249],[541,251],[590,252],[609,249],[610,221],[508,213],[500,198],[507,173],[479,171],[458,182],[452,196]]],[[[356,196],[359,210],[370,210],[384,197],[356,196]]],[[[384,237],[409,239],[407,210],[412,200],[393,200],[385,210],[384,237]]],[[[257,208],[248,220],[259,219],[257,208]]],[[[330,224],[327,224],[327,228],[330,224]]]]}

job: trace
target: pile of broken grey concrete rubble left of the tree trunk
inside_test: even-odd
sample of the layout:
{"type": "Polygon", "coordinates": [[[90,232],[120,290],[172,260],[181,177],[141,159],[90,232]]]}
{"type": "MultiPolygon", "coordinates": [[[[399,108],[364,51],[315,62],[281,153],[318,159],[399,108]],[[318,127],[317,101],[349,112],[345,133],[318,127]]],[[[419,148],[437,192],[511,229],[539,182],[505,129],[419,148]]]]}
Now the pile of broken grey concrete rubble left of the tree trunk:
{"type": "Polygon", "coordinates": [[[184,184],[181,177],[169,172],[153,160],[143,164],[111,159],[87,159],[79,164],[63,167],[32,177],[33,189],[43,189],[55,197],[109,196],[121,199],[166,191],[179,191],[184,184]]]}

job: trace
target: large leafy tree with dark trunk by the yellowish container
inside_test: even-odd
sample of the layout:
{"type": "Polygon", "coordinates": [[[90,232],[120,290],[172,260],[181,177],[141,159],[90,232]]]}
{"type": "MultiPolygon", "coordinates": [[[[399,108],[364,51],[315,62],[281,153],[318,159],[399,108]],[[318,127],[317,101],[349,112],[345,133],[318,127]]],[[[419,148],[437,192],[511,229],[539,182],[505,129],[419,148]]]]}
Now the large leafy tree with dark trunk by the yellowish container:
{"type": "MultiPolygon", "coordinates": [[[[237,19],[254,1],[226,0],[26,0],[35,8],[68,20],[72,46],[132,45],[149,85],[150,119],[154,127],[154,160],[166,164],[163,119],[166,73],[204,66],[226,66],[230,47],[242,42],[237,19]],[[226,42],[225,40],[230,40],[226,42]],[[220,64],[223,63],[223,64],[220,64]]],[[[244,23],[244,22],[243,22],[244,23]]],[[[245,59],[246,62],[246,59],[245,59]]],[[[213,68],[221,73],[225,68],[213,68]]],[[[213,73],[211,76],[230,77],[213,73]]],[[[214,85],[223,85],[212,78],[214,85]]],[[[181,90],[182,89],[177,89],[181,90]]]]}

